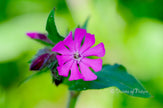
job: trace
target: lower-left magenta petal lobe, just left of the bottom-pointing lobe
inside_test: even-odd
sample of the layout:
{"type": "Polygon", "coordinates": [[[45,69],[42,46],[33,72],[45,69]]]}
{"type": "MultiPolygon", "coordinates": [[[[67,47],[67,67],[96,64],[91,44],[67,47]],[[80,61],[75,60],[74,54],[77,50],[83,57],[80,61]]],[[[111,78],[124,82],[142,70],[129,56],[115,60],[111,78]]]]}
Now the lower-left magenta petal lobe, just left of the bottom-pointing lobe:
{"type": "Polygon", "coordinates": [[[58,66],[57,67],[58,74],[61,76],[68,77],[68,74],[69,74],[72,64],[73,64],[73,60],[67,62],[64,65],[58,66]]]}

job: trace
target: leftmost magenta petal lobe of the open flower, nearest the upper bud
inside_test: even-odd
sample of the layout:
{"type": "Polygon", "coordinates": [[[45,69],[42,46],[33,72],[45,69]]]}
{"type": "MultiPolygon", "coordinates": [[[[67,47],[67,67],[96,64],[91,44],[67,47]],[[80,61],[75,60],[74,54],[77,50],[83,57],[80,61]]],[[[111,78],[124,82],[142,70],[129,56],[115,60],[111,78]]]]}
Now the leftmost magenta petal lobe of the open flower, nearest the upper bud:
{"type": "Polygon", "coordinates": [[[59,43],[57,43],[53,48],[52,51],[63,54],[63,55],[71,55],[72,52],[70,52],[70,50],[68,50],[63,41],[60,41],[59,43]]]}

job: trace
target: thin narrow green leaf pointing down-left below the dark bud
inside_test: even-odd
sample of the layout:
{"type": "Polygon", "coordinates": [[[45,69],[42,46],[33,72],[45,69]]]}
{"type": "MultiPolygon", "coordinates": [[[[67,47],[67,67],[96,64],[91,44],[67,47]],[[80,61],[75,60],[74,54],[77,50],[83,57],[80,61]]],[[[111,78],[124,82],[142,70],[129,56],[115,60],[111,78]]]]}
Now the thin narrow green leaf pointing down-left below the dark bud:
{"type": "Polygon", "coordinates": [[[22,84],[28,82],[30,79],[32,79],[32,78],[34,78],[34,77],[36,77],[36,76],[39,76],[39,75],[41,75],[41,74],[47,72],[48,70],[49,70],[49,68],[45,68],[45,69],[43,69],[43,70],[41,70],[41,71],[39,71],[39,72],[35,72],[34,74],[32,74],[32,75],[28,76],[27,78],[25,78],[24,80],[22,80],[22,81],[18,84],[18,86],[21,86],[22,84]]]}

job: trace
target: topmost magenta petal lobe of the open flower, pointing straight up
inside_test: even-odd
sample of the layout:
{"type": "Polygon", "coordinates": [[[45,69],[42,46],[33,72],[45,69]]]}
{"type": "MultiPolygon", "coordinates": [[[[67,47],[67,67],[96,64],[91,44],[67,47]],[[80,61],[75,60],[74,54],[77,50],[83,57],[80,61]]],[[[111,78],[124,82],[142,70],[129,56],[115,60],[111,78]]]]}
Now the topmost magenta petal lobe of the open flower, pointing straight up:
{"type": "Polygon", "coordinates": [[[75,30],[75,36],[74,36],[74,41],[75,41],[75,48],[77,51],[79,51],[80,47],[81,47],[81,42],[84,38],[84,36],[86,35],[86,30],[85,29],[81,29],[81,28],[76,28],[75,30]]]}

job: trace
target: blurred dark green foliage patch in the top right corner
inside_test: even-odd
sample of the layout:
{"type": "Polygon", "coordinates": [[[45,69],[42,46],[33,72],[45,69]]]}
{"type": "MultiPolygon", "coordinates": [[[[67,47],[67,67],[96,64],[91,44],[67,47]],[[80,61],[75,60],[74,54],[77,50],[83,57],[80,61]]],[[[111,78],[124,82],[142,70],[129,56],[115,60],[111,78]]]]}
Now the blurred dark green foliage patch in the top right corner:
{"type": "Polygon", "coordinates": [[[132,17],[155,18],[163,21],[162,4],[162,0],[118,0],[119,11],[127,21],[134,21],[132,17]]]}

